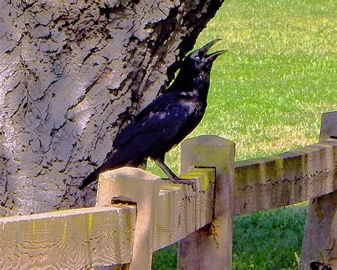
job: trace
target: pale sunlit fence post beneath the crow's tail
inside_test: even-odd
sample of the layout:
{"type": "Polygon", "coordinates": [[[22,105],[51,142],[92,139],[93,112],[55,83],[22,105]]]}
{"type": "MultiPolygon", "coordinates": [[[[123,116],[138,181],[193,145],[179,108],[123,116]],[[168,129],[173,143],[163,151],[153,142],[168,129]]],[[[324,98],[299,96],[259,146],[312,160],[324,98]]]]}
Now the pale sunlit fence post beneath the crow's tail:
{"type": "Polygon", "coordinates": [[[151,269],[160,185],[160,177],[132,167],[103,172],[99,177],[96,206],[111,205],[113,201],[137,204],[130,270],[151,269]]]}

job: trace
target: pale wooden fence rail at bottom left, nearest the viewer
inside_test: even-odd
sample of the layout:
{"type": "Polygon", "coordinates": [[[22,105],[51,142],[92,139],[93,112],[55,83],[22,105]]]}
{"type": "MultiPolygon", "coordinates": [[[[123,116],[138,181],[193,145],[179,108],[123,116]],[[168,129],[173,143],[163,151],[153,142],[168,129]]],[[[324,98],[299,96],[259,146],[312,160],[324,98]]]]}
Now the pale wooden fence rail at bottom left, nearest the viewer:
{"type": "Polygon", "coordinates": [[[84,269],[132,258],[136,209],[92,207],[0,219],[0,269],[84,269]]]}

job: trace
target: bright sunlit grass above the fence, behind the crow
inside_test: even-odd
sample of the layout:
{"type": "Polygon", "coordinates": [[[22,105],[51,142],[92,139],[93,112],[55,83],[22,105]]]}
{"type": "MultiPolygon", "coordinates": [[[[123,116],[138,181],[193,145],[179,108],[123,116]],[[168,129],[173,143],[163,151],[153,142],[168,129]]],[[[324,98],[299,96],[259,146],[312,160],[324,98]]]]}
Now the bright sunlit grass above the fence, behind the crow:
{"type": "MultiPolygon", "coordinates": [[[[316,142],[321,114],[337,109],[334,1],[226,1],[196,48],[221,38],[208,109],[188,137],[236,143],[236,160],[316,142]]],[[[179,170],[179,147],[166,155],[179,170]]],[[[161,174],[150,165],[154,172],[161,174]]]]}

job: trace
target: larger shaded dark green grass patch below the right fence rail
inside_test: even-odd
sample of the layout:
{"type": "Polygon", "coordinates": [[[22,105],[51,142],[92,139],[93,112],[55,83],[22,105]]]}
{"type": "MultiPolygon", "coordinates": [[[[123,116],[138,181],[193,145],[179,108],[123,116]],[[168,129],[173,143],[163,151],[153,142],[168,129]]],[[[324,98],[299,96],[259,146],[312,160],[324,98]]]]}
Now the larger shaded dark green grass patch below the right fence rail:
{"type": "Polygon", "coordinates": [[[297,269],[306,206],[235,217],[232,269],[297,269]]]}

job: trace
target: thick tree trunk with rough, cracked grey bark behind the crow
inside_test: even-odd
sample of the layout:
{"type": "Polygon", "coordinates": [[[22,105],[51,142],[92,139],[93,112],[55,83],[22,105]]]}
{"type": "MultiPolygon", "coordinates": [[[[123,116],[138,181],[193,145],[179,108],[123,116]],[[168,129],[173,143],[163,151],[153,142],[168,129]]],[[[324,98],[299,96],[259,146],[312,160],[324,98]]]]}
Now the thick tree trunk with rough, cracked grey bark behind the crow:
{"type": "Polygon", "coordinates": [[[0,1],[0,216],[92,204],[78,185],[222,2],[0,1]]]}

